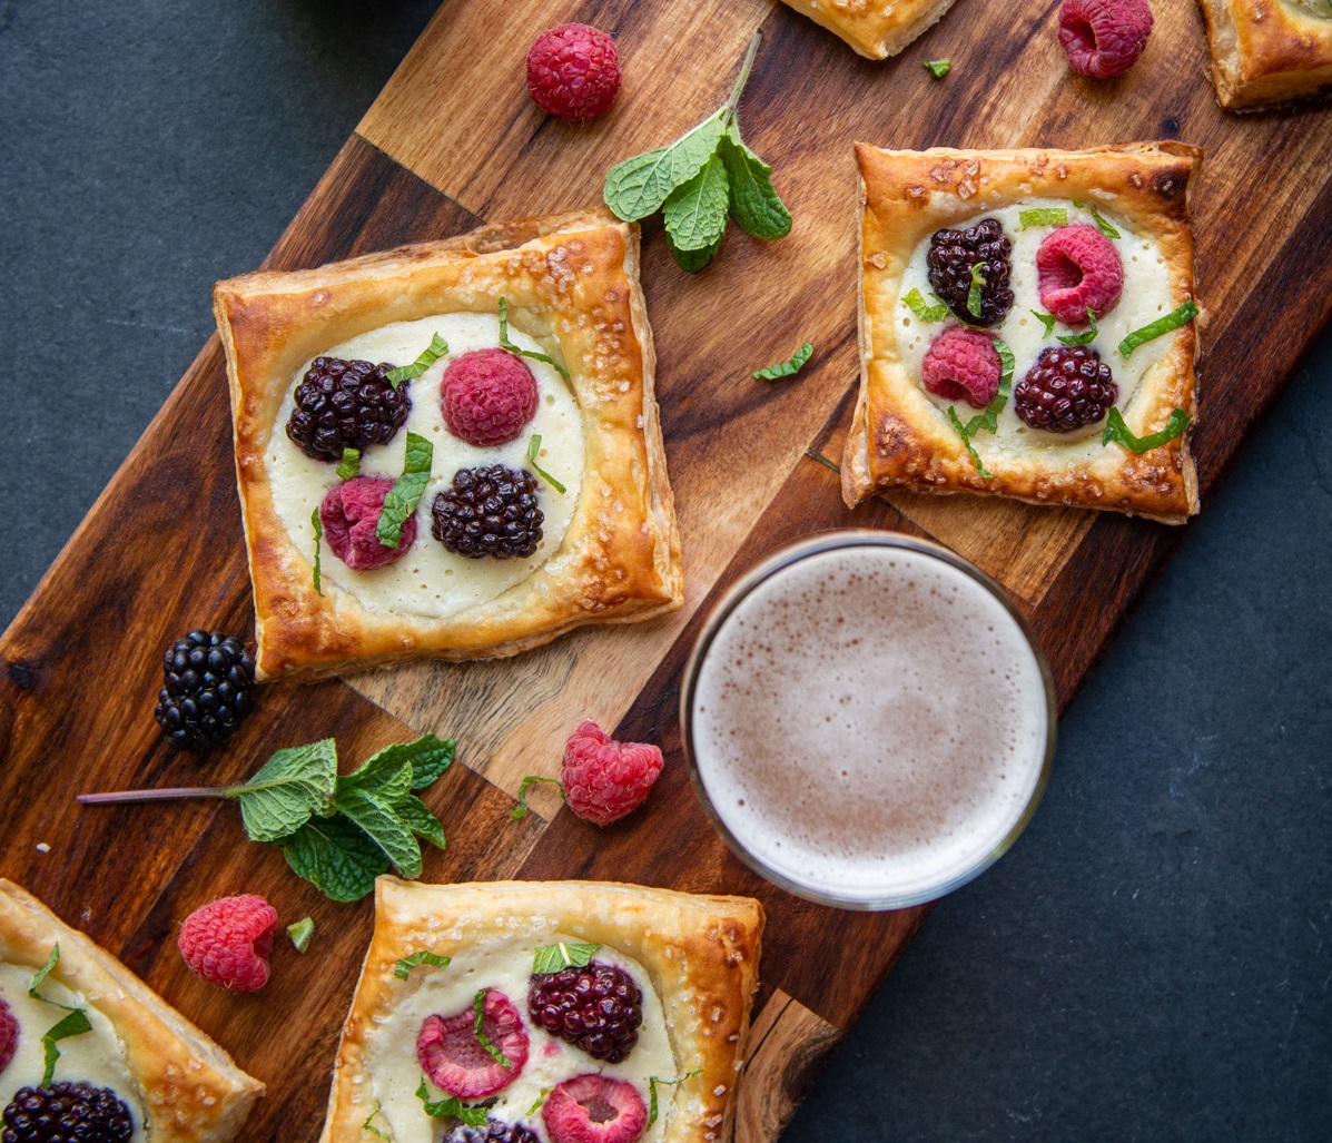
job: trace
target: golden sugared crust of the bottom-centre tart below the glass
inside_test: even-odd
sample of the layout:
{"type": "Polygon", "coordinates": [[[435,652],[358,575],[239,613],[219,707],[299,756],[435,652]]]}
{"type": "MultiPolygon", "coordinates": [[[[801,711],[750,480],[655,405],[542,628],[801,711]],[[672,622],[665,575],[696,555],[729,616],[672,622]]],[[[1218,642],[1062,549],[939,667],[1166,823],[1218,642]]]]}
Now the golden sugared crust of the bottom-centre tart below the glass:
{"type": "MultiPolygon", "coordinates": [[[[735,1080],[758,988],[759,902],[617,882],[421,885],[381,877],[374,903],[374,935],[342,1027],[321,1143],[360,1143],[361,1126],[376,1108],[376,1036],[392,1027],[392,1012],[410,996],[422,971],[402,980],[394,974],[398,959],[429,950],[458,962],[454,971],[466,971],[469,951],[478,946],[498,942],[526,950],[557,939],[601,945],[633,958],[651,978],[670,1040],[671,1078],[697,1071],[674,1086],[658,1086],[663,1124],[658,1143],[730,1138],[735,1080]]],[[[513,1000],[526,1022],[525,990],[513,1000]]],[[[570,1075],[601,1070],[578,1048],[567,1051],[575,1056],[570,1075]]],[[[630,1052],[627,1062],[633,1059],[630,1052]]],[[[646,1103],[649,1092],[639,1094],[646,1103]]],[[[529,1118],[539,1122],[534,1111],[529,1118]]]]}

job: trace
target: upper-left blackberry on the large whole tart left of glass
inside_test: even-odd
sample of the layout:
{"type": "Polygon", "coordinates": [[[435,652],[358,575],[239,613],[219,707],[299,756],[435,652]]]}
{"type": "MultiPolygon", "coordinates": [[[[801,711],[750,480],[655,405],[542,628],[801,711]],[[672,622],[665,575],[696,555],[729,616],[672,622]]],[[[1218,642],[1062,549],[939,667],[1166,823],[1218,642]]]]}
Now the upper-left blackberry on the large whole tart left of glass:
{"type": "Polygon", "coordinates": [[[406,382],[389,384],[392,365],[316,357],[296,386],[289,436],[308,457],[340,461],[344,449],[384,445],[412,412],[406,382]]]}

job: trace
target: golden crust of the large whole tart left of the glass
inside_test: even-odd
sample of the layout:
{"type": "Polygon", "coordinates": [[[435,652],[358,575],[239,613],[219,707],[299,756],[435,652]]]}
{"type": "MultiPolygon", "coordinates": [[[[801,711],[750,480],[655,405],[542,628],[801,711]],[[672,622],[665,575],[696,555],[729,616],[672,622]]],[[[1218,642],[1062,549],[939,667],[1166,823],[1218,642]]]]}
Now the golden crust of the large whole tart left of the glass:
{"type": "MultiPolygon", "coordinates": [[[[679,607],[679,534],[638,257],[635,225],[585,210],[218,282],[213,309],[230,382],[260,678],[312,679],[414,658],[497,658],[583,623],[679,607]],[[265,461],[297,370],[392,322],[494,314],[501,297],[514,329],[563,358],[582,417],[583,480],[559,549],[497,598],[446,617],[373,610],[336,587],[320,595],[313,532],[293,540],[284,528],[265,461]]],[[[417,544],[434,542],[422,528],[417,544]]]]}

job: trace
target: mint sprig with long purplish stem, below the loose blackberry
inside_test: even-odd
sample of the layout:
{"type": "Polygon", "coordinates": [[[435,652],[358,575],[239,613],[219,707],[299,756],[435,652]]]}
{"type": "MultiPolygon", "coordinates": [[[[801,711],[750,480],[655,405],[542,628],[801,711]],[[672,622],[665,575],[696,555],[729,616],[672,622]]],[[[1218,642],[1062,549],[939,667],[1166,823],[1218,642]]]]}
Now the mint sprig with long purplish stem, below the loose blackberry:
{"type": "Polygon", "coordinates": [[[337,746],[325,738],[278,750],[238,786],[80,794],[79,801],[237,801],[252,841],[281,846],[292,871],[325,897],[358,901],[390,865],[404,877],[420,877],[418,837],[444,847],[444,826],[410,791],[440,778],[453,755],[452,741],[426,734],[416,742],[386,746],[357,770],[338,775],[337,746]]]}

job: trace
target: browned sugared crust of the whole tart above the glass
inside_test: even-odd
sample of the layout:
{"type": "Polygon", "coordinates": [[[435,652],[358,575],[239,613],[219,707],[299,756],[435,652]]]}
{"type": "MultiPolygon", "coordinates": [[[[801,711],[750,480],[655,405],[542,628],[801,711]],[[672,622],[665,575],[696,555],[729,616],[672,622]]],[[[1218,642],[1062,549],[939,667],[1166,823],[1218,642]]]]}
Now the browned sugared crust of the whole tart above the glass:
{"type": "MultiPolygon", "coordinates": [[[[1076,505],[1181,524],[1197,512],[1197,480],[1188,429],[1166,445],[1135,454],[1118,444],[1070,449],[1036,432],[1006,442],[975,437],[987,480],[970,457],[947,410],[930,400],[902,361],[899,321],[903,276],[916,248],[943,228],[1035,200],[1098,204],[1152,240],[1166,264],[1169,306],[1196,300],[1189,192],[1201,161],[1175,143],[1088,151],[880,151],[856,144],[860,168],[860,396],[842,461],[842,496],[855,506],[892,490],[974,492],[1031,504],[1076,505]],[[1016,444],[1018,441],[1031,444],[1016,444]]],[[[1131,284],[1126,284],[1126,293],[1131,284]]],[[[1019,300],[1014,310],[1023,302],[1019,300]]],[[[1032,305],[1036,302],[1032,301],[1032,305]]],[[[1196,409],[1195,320],[1160,338],[1160,358],[1122,408],[1143,437],[1166,426],[1173,409],[1196,409]]],[[[1138,350],[1139,353],[1142,350],[1138,350]]],[[[1018,361],[1015,380],[1032,362],[1018,361]]],[[[1118,354],[1111,361],[1119,362],[1118,354]]],[[[967,409],[966,413],[970,416],[967,409]]],[[[1096,438],[1099,441],[1099,437],[1096,438]]]]}

